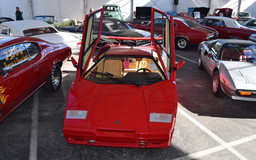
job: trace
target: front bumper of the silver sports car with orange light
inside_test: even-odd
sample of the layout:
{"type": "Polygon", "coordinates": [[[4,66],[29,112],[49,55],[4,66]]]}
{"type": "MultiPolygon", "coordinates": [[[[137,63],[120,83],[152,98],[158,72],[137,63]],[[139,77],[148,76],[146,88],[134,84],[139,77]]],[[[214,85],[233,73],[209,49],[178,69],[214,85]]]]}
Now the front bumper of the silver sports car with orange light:
{"type": "Polygon", "coordinates": [[[242,96],[238,96],[236,94],[236,91],[233,91],[233,90],[229,89],[223,83],[220,83],[220,85],[221,85],[221,88],[222,88],[223,92],[226,93],[228,95],[228,97],[230,97],[233,100],[244,100],[244,101],[256,102],[256,97],[242,97],[242,96]]]}

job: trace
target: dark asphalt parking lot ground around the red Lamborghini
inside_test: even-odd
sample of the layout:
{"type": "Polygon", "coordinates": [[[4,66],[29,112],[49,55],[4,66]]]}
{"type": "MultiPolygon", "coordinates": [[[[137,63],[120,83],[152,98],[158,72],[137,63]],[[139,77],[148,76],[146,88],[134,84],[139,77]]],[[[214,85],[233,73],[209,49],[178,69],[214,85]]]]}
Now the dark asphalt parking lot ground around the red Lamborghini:
{"type": "Polygon", "coordinates": [[[197,68],[197,45],[175,54],[185,64],[176,71],[179,104],[169,148],[68,144],[62,127],[76,75],[68,61],[58,92],[39,89],[0,124],[0,159],[255,159],[256,102],[216,98],[211,77],[197,68]]]}

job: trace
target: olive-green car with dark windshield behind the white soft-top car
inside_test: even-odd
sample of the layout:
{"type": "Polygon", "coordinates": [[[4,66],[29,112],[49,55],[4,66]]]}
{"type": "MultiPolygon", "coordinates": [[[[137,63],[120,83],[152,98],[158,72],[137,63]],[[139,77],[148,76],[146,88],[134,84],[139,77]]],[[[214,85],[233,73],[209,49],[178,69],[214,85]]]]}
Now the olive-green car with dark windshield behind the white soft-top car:
{"type": "Polygon", "coordinates": [[[78,20],[76,19],[67,19],[67,20],[56,20],[55,16],[35,16],[33,20],[42,20],[44,22],[47,22],[48,24],[53,25],[54,28],[60,28],[60,27],[68,27],[68,26],[74,26],[77,25],[78,20]]]}

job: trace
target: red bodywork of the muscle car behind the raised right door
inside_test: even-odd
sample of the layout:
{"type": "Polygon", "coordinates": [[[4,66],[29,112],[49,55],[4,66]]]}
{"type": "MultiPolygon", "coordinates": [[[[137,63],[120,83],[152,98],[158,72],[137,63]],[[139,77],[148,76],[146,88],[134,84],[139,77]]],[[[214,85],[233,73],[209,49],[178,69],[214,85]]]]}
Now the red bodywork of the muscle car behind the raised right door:
{"type": "MultiPolygon", "coordinates": [[[[195,28],[189,28],[183,23],[183,20],[189,20],[186,18],[173,18],[173,21],[176,23],[176,26],[174,27],[174,37],[182,36],[187,37],[190,44],[200,44],[201,42],[206,40],[207,36],[216,36],[216,30],[212,28],[205,28],[202,27],[202,25],[195,27],[195,28]]],[[[132,28],[141,29],[141,30],[151,30],[151,26],[147,24],[130,24],[132,28]]],[[[161,28],[155,28],[154,32],[162,34],[161,28]],[[159,30],[160,29],[160,30],[159,30]]]]}

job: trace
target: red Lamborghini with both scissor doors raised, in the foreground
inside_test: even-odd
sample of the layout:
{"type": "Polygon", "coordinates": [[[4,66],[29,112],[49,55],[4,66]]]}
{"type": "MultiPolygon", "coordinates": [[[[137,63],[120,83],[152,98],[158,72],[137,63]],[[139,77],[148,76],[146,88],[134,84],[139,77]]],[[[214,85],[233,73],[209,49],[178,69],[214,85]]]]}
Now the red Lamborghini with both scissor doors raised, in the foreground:
{"type": "Polygon", "coordinates": [[[119,42],[147,39],[151,45],[104,46],[91,68],[88,66],[100,39],[103,9],[85,16],[78,63],[71,57],[77,72],[65,110],[63,132],[68,143],[170,146],[178,103],[175,71],[184,61],[175,64],[173,18],[154,8],[151,11],[152,24],[154,17],[166,18],[162,24],[165,37],[154,37],[154,29],[151,37],[112,37],[119,42]]]}

